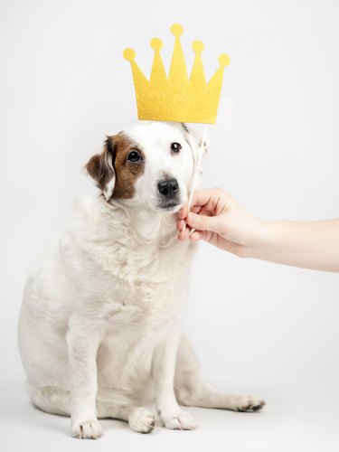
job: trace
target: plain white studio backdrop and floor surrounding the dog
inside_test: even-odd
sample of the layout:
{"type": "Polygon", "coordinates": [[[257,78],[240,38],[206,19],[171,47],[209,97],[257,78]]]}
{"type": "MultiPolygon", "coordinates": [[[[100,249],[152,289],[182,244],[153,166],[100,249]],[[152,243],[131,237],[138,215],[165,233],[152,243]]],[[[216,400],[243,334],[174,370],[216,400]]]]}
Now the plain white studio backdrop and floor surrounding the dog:
{"type": "MultiPolygon", "coordinates": [[[[204,186],[265,219],[339,215],[339,3],[18,1],[0,3],[1,450],[301,451],[339,449],[338,275],[243,260],[202,244],[185,330],[210,381],[267,400],[260,414],[190,409],[194,432],[148,436],[103,422],[98,442],[34,410],[23,391],[16,321],[29,262],[59,231],[80,173],[106,134],[137,119],[125,47],[149,74],[149,40],[184,25],[225,70],[204,186]],[[202,335],[202,331],[205,333],[202,335]],[[207,333],[206,333],[207,332],[207,333]]],[[[316,238],[315,238],[316,240],[316,238]]],[[[43,340],[43,338],[42,338],[43,340]]]]}

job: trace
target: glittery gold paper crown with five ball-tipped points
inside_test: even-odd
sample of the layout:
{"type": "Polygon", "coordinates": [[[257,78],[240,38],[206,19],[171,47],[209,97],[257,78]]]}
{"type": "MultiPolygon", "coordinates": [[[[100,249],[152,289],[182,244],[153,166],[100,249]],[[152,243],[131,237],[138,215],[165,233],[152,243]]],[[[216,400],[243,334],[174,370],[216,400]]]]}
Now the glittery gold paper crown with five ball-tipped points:
{"type": "Polygon", "coordinates": [[[217,118],[222,77],[230,58],[225,53],[219,57],[220,67],[207,82],[202,65],[203,43],[194,41],[195,52],[191,77],[188,78],[180,36],[184,29],[179,24],[171,26],[175,36],[174,52],[168,79],[160,56],[163,42],[151,40],[155,51],[150,80],[140,71],[135,61],[136,52],[125,49],[124,58],[130,61],[137,97],[139,119],[155,121],[201,122],[214,124],[217,118]]]}

